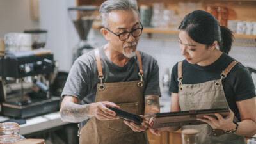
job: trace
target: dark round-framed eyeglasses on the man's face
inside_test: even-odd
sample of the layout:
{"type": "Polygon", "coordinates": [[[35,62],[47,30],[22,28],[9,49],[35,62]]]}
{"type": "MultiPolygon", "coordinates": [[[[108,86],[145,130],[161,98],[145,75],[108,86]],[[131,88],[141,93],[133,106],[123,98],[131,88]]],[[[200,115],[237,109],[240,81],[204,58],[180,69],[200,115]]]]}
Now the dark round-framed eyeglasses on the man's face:
{"type": "Polygon", "coordinates": [[[106,28],[106,29],[108,29],[108,31],[110,31],[110,32],[113,33],[114,35],[119,36],[119,39],[120,39],[121,41],[124,41],[124,40],[127,40],[127,39],[129,38],[130,34],[132,34],[132,36],[133,36],[134,38],[140,36],[141,33],[142,33],[142,30],[143,30],[143,26],[142,26],[141,23],[140,23],[140,25],[141,25],[141,28],[134,29],[133,31],[130,31],[130,32],[124,32],[124,33],[119,33],[119,34],[114,33],[113,31],[111,31],[111,30],[108,29],[108,28],[106,28]]]}

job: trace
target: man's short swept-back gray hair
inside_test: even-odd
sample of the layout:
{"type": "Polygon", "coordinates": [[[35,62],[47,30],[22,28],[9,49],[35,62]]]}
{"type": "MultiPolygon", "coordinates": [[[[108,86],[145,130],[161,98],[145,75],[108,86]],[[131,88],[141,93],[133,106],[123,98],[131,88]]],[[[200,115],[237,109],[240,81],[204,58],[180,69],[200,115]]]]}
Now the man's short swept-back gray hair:
{"type": "Polygon", "coordinates": [[[108,0],[100,6],[102,26],[108,28],[108,16],[112,10],[135,10],[139,14],[136,0],[108,0]]]}

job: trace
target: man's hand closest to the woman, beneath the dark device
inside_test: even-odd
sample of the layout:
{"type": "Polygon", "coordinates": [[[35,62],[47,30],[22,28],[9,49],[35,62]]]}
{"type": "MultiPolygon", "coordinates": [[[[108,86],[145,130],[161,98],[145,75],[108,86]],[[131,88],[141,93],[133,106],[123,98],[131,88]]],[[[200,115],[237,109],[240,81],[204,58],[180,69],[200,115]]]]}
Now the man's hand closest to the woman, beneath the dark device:
{"type": "Polygon", "coordinates": [[[127,120],[124,120],[124,123],[129,127],[131,127],[132,131],[135,131],[135,132],[147,131],[149,127],[148,121],[145,119],[143,115],[140,115],[140,117],[144,119],[143,122],[141,122],[141,125],[137,125],[134,122],[129,122],[127,120]]]}

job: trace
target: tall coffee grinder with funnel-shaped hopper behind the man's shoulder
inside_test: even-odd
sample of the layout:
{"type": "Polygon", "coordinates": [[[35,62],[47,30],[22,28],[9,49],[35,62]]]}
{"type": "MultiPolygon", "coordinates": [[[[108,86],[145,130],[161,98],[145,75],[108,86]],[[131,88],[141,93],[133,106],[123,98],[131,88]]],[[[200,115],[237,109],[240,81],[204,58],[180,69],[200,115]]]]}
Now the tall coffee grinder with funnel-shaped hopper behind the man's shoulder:
{"type": "Polygon", "coordinates": [[[92,27],[97,10],[97,6],[77,6],[74,8],[68,8],[70,19],[72,19],[80,38],[78,44],[73,50],[73,63],[85,52],[93,50],[93,47],[88,44],[87,36],[92,27]]]}

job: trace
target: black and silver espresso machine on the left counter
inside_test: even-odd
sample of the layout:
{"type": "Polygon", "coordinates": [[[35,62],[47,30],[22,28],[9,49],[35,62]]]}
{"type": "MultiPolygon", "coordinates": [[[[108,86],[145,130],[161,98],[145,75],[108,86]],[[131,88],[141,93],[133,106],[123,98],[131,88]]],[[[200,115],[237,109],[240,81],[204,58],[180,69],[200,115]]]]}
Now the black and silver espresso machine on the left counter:
{"type": "Polygon", "coordinates": [[[54,68],[49,51],[5,52],[0,56],[1,113],[27,118],[58,111],[60,97],[52,96],[49,90],[54,68]]]}

